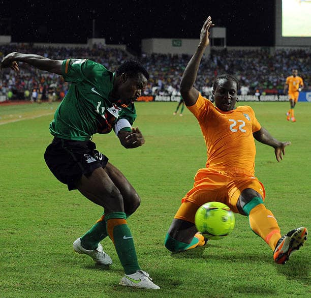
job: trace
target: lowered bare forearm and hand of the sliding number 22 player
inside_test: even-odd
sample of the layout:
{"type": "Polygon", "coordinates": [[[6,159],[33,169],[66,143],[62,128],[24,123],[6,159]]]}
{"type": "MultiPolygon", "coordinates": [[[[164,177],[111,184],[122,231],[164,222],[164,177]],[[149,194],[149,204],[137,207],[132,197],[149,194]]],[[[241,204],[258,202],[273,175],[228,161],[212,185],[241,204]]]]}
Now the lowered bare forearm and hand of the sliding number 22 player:
{"type": "Polygon", "coordinates": [[[259,131],[254,132],[253,136],[257,141],[274,148],[275,158],[278,162],[283,160],[283,156],[285,155],[285,147],[291,144],[289,141],[280,142],[273,138],[263,127],[259,131]]]}

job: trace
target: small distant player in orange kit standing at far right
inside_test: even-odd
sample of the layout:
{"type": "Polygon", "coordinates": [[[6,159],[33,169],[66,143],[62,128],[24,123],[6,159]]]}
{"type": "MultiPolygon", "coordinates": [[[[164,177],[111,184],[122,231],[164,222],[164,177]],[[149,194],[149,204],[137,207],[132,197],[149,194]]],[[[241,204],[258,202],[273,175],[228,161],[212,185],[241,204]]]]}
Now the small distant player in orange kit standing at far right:
{"type": "Polygon", "coordinates": [[[296,102],[298,101],[299,92],[303,88],[303,80],[298,76],[298,70],[292,69],[292,76],[286,78],[284,93],[288,90],[288,97],[290,101],[291,108],[287,111],[287,121],[296,122],[296,118],[294,115],[294,107],[296,102]]]}

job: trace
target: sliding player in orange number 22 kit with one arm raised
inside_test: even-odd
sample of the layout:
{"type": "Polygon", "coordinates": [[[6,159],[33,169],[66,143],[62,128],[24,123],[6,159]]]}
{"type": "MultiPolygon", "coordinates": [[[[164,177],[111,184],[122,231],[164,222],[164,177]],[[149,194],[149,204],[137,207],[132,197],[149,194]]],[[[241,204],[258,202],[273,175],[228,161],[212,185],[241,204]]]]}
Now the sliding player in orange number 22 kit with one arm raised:
{"type": "Polygon", "coordinates": [[[180,93],[186,107],[197,118],[207,147],[205,168],[195,175],[193,188],[185,194],[166,234],[165,247],[182,252],[206,244],[198,233],[195,214],[207,202],[218,201],[235,213],[248,216],[252,230],[272,249],[278,264],[287,261],[291,253],[306,240],[307,229],[300,227],[281,235],[278,223],[264,205],[263,184],[254,176],[256,147],[254,138],[272,146],[279,162],[290,142],[276,140],[261,127],[250,106],[235,107],[239,83],[229,74],[216,77],[212,98],[203,98],[194,87],[203,53],[209,44],[208,17],[201,29],[200,43],[186,66],[180,93]],[[212,104],[215,102],[215,106],[212,104]]]}

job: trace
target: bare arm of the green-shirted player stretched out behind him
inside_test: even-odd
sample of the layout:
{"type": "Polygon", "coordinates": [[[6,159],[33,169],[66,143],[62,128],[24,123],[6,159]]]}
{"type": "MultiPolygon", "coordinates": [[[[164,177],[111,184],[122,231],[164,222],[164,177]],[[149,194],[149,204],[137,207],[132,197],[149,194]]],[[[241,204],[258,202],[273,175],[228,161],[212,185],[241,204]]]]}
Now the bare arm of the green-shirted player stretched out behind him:
{"type": "Polygon", "coordinates": [[[27,63],[33,67],[48,72],[53,72],[61,75],[61,65],[63,61],[52,60],[36,54],[22,54],[13,52],[6,55],[1,62],[1,69],[10,67],[14,71],[19,71],[18,62],[27,63]]]}

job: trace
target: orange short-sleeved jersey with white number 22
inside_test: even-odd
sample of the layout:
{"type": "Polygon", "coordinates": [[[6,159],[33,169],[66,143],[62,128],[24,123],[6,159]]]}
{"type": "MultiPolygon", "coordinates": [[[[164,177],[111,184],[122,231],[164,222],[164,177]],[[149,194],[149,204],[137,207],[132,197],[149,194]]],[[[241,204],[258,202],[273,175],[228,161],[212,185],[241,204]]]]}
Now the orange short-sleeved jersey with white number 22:
{"type": "Polygon", "coordinates": [[[253,133],[261,126],[250,106],[224,112],[201,96],[188,107],[195,115],[207,147],[206,167],[224,166],[255,173],[253,133]]]}

